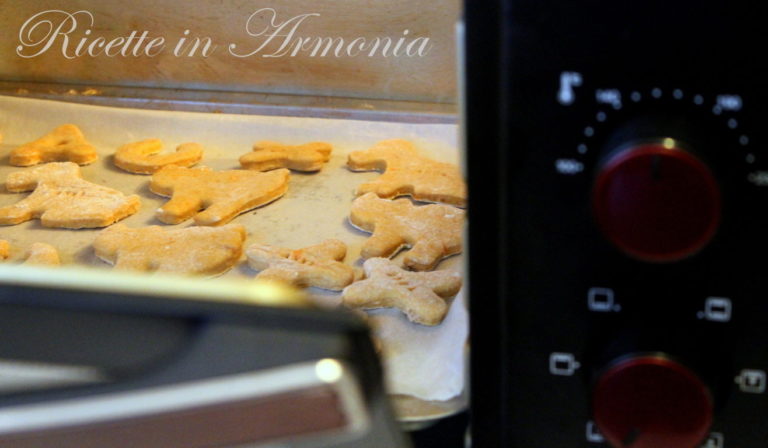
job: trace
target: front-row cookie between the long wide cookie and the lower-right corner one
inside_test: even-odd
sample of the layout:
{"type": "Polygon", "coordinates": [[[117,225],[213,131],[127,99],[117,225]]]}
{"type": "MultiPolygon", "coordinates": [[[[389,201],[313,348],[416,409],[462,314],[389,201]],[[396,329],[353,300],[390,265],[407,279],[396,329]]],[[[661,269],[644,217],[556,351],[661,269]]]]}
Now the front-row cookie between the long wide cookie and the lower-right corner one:
{"type": "Polygon", "coordinates": [[[258,279],[333,291],[341,291],[355,279],[352,266],[342,263],[346,254],[347,246],[339,240],[296,250],[254,244],[245,251],[248,264],[261,271],[258,279]]]}

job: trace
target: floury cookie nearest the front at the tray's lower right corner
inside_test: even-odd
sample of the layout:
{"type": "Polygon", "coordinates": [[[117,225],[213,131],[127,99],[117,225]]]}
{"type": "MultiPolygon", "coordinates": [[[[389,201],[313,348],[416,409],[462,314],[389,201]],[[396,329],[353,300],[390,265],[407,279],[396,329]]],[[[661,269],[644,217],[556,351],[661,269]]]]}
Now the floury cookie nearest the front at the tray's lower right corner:
{"type": "Polygon", "coordinates": [[[398,308],[408,320],[438,325],[448,313],[445,299],[461,289],[461,275],[455,271],[408,272],[386,258],[371,258],[363,264],[365,280],[342,292],[350,308],[398,308]]]}

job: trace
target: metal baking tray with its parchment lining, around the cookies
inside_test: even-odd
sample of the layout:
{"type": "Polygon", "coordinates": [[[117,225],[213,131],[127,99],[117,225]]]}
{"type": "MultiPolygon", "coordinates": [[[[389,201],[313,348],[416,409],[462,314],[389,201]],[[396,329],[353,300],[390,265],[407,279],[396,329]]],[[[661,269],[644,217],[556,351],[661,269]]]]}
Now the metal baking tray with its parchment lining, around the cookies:
{"type": "MultiPolygon", "coordinates": [[[[57,87],[56,90],[39,84],[8,83],[4,87],[5,91],[0,90],[0,93],[12,96],[0,97],[0,133],[3,134],[0,179],[20,169],[8,164],[7,154],[12,147],[37,138],[59,124],[77,124],[100,155],[97,162],[82,167],[84,177],[141,197],[139,213],[123,221],[130,227],[162,225],[153,213],[166,198],[148,190],[148,176],[129,174],[114,167],[111,154],[122,144],[160,138],[166,149],[173,150],[178,144],[194,141],[202,144],[206,151],[201,165],[237,169],[238,157],[249,152],[251,145],[258,140],[332,143],[334,152],[331,160],[320,173],[292,174],[285,197],[249,211],[233,222],[243,224],[248,230],[246,245],[259,242],[298,248],[326,238],[341,239],[348,245],[345,261],[356,267],[361,266],[360,247],[368,234],[353,228],[346,220],[353,199],[352,191],[356,185],[379,174],[350,172],[344,167],[346,155],[380,140],[405,138],[433,158],[453,163],[460,163],[461,158],[455,116],[450,113],[450,108],[438,108],[435,112],[435,109],[421,104],[398,103],[393,108],[387,102],[372,104],[359,100],[321,98],[314,103],[304,98],[296,106],[290,96],[264,102],[262,97],[224,95],[224,100],[221,100],[220,95],[185,91],[152,92],[154,96],[137,98],[138,94],[147,94],[151,89],[105,91],[89,88],[63,90],[57,87]]],[[[2,192],[0,205],[14,203],[20,197],[23,196],[2,192]]],[[[178,227],[187,225],[190,223],[178,227]]],[[[10,240],[17,252],[32,242],[46,242],[60,250],[64,264],[110,269],[93,254],[91,242],[97,232],[47,229],[39,222],[31,221],[0,228],[0,238],[10,240]]],[[[464,269],[463,257],[448,258],[438,269],[464,269]]],[[[250,278],[255,274],[246,263],[241,263],[223,278],[250,278]]],[[[321,306],[334,307],[338,304],[338,294],[315,289],[310,289],[309,293],[321,306]]],[[[464,385],[468,319],[463,301],[460,294],[452,305],[453,314],[449,315],[448,325],[436,328],[419,328],[394,310],[369,313],[372,327],[383,325],[387,330],[385,333],[392,338],[383,341],[384,364],[385,369],[390,370],[388,377],[394,407],[407,427],[429,424],[467,406],[468,395],[464,385]],[[397,349],[387,350],[388,345],[397,349]],[[403,360],[402,356],[398,358],[399,362],[389,359],[388,352],[402,351],[406,346],[409,347],[407,350],[418,348],[411,353],[410,361],[403,360]],[[413,385],[402,384],[398,382],[400,380],[395,380],[393,384],[391,378],[408,376],[397,375],[398,369],[402,370],[403,365],[412,365],[412,359],[419,358],[422,353],[434,352],[435,347],[450,356],[419,367],[422,369],[416,375],[419,384],[411,389],[409,386],[413,385]],[[428,378],[427,375],[433,377],[428,378]],[[435,399],[427,393],[426,398],[418,398],[408,393],[409,390],[423,390],[424,384],[430,382],[445,389],[437,394],[442,396],[435,399]]]]}

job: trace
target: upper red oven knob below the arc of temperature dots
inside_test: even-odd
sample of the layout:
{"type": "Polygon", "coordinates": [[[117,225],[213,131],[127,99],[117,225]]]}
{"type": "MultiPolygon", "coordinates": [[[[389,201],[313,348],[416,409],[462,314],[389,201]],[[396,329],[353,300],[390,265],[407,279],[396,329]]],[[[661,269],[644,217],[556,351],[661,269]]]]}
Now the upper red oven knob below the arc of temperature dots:
{"type": "Polygon", "coordinates": [[[720,190],[711,171],[672,139],[610,157],[592,201],[605,236],[644,261],[676,261],[698,252],[720,222],[720,190]]]}

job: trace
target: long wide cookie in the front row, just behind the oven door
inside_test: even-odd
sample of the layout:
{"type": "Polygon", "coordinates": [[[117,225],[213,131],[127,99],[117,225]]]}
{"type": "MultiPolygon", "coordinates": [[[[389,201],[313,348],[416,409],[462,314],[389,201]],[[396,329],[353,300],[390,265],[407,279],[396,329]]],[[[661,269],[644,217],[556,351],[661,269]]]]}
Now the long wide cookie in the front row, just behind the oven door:
{"type": "Polygon", "coordinates": [[[93,248],[116,269],[217,275],[240,260],[245,237],[239,224],[182,229],[117,224],[102,230],[93,248]]]}

